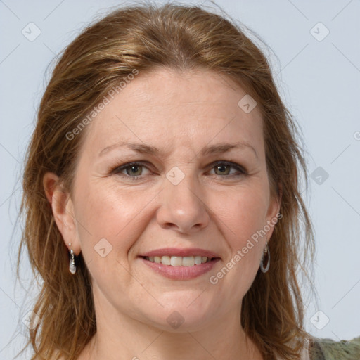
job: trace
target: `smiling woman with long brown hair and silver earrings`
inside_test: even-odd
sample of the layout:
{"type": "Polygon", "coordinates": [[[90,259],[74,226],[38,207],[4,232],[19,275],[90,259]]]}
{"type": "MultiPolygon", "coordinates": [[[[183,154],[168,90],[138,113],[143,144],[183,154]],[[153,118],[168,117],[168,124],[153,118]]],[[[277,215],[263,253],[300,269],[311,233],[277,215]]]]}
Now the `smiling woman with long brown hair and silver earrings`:
{"type": "MultiPolygon", "coordinates": [[[[344,347],[303,330],[295,274],[313,233],[295,132],[266,58],[219,15],[138,6],[84,30],[53,70],[24,173],[23,245],[44,279],[32,359],[344,347]]],[[[346,347],[337,359],[359,356],[346,347]]]]}

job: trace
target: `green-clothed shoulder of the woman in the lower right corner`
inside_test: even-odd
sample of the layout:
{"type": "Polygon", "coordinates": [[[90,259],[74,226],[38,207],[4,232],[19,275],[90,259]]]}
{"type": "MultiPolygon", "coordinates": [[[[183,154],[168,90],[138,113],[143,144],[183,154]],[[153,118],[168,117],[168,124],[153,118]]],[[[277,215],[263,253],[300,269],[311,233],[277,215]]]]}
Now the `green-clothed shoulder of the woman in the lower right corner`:
{"type": "Polygon", "coordinates": [[[311,360],[359,360],[360,337],[349,341],[311,338],[311,360]]]}

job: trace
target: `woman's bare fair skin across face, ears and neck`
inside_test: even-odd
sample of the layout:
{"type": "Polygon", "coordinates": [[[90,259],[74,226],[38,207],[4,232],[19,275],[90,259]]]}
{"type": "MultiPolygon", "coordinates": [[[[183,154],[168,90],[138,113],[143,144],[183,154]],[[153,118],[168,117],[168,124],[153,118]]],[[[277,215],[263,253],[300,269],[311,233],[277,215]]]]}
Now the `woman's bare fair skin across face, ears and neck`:
{"type": "Polygon", "coordinates": [[[208,70],[140,73],[86,128],[72,193],[55,174],[44,176],[65,245],[82,252],[91,274],[98,330],[80,360],[262,359],[240,326],[240,309],[265,237],[216,285],[209,281],[280,208],[270,195],[262,115],[258,107],[247,114],[238,106],[245,94],[208,70]],[[115,146],[99,155],[120,141],[163,154],[115,146]],[[237,141],[255,151],[200,155],[206,146],[237,141]],[[133,161],[146,164],[112,172],[133,161]],[[247,174],[218,169],[219,161],[247,174]],[[177,185],[166,177],[173,167],[184,174],[177,185]],[[94,250],[102,238],[113,247],[105,257],[94,250]],[[139,258],[167,247],[212,250],[221,260],[198,278],[170,280],[139,258]],[[167,322],[173,311],[184,319],[176,329],[167,322]]]}

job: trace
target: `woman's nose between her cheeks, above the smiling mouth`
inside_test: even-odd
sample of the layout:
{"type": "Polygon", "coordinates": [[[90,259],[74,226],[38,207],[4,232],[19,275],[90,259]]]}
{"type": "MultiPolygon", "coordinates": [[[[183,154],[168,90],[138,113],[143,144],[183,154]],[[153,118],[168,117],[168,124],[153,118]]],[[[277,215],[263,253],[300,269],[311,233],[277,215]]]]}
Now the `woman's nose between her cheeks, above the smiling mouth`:
{"type": "Polygon", "coordinates": [[[163,229],[174,229],[191,234],[205,228],[210,221],[204,191],[191,176],[186,175],[179,184],[165,178],[160,193],[161,206],[157,221],[163,229]]]}

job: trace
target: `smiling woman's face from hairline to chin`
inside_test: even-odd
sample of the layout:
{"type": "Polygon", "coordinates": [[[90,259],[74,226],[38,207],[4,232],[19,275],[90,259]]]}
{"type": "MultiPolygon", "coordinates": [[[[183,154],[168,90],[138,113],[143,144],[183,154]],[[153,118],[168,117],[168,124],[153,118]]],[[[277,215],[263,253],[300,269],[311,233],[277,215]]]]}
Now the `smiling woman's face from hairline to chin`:
{"type": "Polygon", "coordinates": [[[269,240],[279,210],[245,95],[214,72],[140,72],[83,130],[73,218],[56,221],[88,266],[97,317],[185,331],[240,314],[265,246],[255,234],[269,240]]]}

